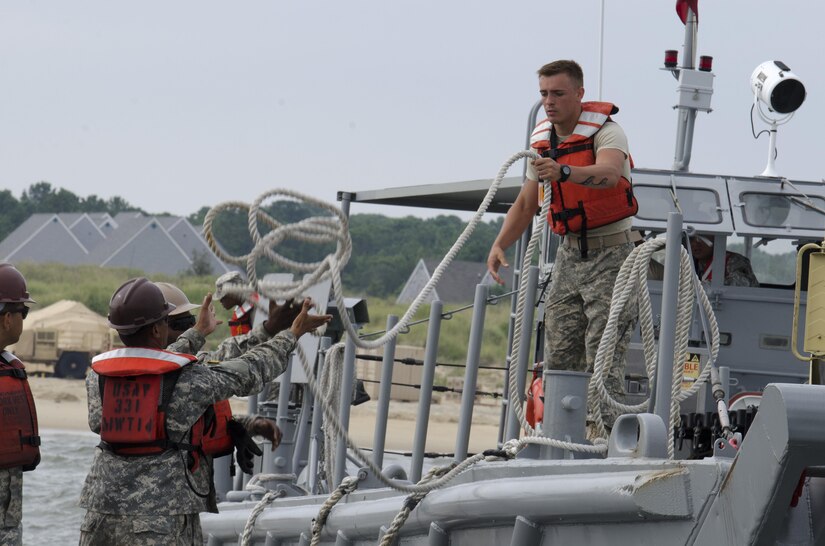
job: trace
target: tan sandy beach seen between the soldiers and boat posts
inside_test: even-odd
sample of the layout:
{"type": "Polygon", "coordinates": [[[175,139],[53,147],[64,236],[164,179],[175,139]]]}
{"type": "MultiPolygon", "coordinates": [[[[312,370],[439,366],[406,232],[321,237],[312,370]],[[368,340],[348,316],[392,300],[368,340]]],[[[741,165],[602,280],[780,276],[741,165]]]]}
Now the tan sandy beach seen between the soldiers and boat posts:
{"type": "MultiPolygon", "coordinates": [[[[30,377],[29,384],[37,405],[41,429],[89,430],[86,412],[86,387],[76,379],[30,377]]],[[[451,453],[455,449],[458,428],[457,398],[437,398],[430,410],[427,427],[427,451],[451,453]]],[[[246,413],[246,399],[232,401],[235,413],[246,413]]],[[[375,432],[376,402],[371,400],[352,408],[350,434],[361,447],[370,447],[375,432]]],[[[469,450],[478,452],[496,446],[500,406],[477,404],[473,412],[473,429],[469,450]]],[[[387,427],[386,449],[409,451],[415,435],[418,404],[392,402],[387,427]]]]}

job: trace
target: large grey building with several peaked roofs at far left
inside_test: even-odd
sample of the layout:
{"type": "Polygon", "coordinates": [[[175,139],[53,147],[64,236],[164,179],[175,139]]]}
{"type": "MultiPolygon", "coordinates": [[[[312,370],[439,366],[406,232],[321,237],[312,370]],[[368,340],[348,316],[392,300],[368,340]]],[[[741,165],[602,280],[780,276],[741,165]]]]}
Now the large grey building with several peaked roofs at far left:
{"type": "Polygon", "coordinates": [[[234,269],[181,216],[38,213],[0,242],[0,262],[95,264],[167,275],[191,269],[196,256],[208,260],[213,274],[234,269]]]}

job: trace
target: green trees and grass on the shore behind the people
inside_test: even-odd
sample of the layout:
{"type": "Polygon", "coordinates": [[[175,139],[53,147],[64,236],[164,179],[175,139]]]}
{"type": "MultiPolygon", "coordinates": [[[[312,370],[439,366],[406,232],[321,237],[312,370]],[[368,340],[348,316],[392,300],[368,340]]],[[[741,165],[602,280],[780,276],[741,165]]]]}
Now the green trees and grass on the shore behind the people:
{"type": "MultiPolygon", "coordinates": [[[[4,211],[0,219],[0,240],[36,212],[109,212],[117,214],[123,210],[135,210],[123,199],[114,197],[104,201],[96,196],[80,198],[65,189],[55,189],[48,182],[33,184],[18,200],[11,192],[0,192],[0,206],[4,211]]],[[[190,222],[200,225],[208,208],[204,207],[189,216],[190,222]]],[[[317,216],[328,215],[311,205],[295,201],[276,201],[266,207],[266,212],[277,222],[292,223],[317,216]]],[[[501,227],[502,218],[481,223],[473,237],[458,254],[457,259],[483,262],[493,239],[501,227]]],[[[353,240],[353,253],[343,272],[343,283],[348,296],[368,297],[371,324],[365,331],[381,330],[386,325],[388,314],[402,316],[405,306],[392,302],[406,282],[419,259],[440,259],[449,250],[466,223],[456,216],[438,216],[421,219],[412,216],[388,218],[379,214],[356,214],[349,219],[353,240]]],[[[252,248],[252,240],[247,230],[245,211],[226,211],[215,218],[214,233],[221,245],[232,255],[242,255],[252,248]]],[[[263,217],[259,219],[262,235],[272,228],[263,217]]],[[[332,245],[309,244],[287,239],[277,247],[277,252],[301,262],[323,259],[334,248],[332,245]]],[[[199,258],[196,256],[196,258],[199,258]]],[[[152,280],[166,281],[180,287],[192,302],[200,302],[207,292],[214,290],[214,275],[204,266],[204,260],[196,259],[185,274],[174,277],[152,276],[152,280]]],[[[70,299],[80,301],[93,311],[105,316],[109,298],[115,289],[129,278],[142,275],[139,270],[100,268],[92,265],[66,266],[61,264],[15,264],[29,282],[29,290],[40,307],[70,299]]],[[[207,264],[208,265],[208,264],[207,264]]],[[[277,271],[270,262],[258,264],[260,276],[277,271]]],[[[217,313],[224,320],[219,330],[210,336],[209,346],[229,335],[226,321],[229,311],[224,311],[216,303],[217,313]]],[[[458,306],[445,306],[445,311],[458,306]]],[[[482,349],[481,364],[503,366],[509,304],[502,302],[490,306],[487,327],[484,332],[485,344],[482,349]]],[[[419,310],[417,318],[426,318],[429,306],[419,310]]],[[[440,339],[439,360],[464,364],[469,338],[469,311],[457,313],[445,320],[440,339]]],[[[426,324],[414,326],[409,334],[402,335],[399,343],[423,347],[427,333],[426,324]]],[[[447,368],[450,374],[463,373],[460,368],[447,368]]]]}

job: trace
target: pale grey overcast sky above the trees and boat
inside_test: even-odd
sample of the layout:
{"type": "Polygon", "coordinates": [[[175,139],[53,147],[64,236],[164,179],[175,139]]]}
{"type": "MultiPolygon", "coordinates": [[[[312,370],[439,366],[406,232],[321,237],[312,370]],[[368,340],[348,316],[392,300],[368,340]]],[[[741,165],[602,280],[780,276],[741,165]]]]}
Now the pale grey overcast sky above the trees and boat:
{"type": "MultiPolygon", "coordinates": [[[[585,100],[599,98],[601,5],[3,2],[0,189],[19,198],[47,181],[186,215],[276,188],[335,202],[340,190],[492,179],[524,148],[538,67],[576,59],[585,100]]],[[[664,50],[682,56],[675,2],[604,5],[601,98],[620,107],[636,166],[670,168],[677,82],[660,69],[664,50]]],[[[780,128],[777,170],[822,179],[823,19],[823,2],[699,1],[698,53],[714,57],[716,77],[691,171],[762,172],[768,141],[751,135],[749,81],[776,59],[808,91],[780,128]]]]}

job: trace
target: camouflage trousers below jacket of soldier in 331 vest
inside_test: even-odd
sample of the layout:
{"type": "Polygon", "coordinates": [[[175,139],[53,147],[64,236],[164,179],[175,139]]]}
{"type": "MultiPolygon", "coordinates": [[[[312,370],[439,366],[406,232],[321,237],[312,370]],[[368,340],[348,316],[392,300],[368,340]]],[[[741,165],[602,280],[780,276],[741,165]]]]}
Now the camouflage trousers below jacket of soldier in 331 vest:
{"type": "Polygon", "coordinates": [[[118,516],[86,512],[80,546],[202,546],[198,514],[118,516]]]}

